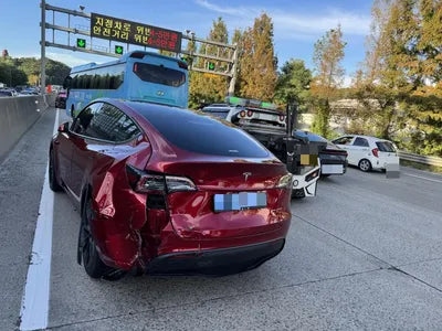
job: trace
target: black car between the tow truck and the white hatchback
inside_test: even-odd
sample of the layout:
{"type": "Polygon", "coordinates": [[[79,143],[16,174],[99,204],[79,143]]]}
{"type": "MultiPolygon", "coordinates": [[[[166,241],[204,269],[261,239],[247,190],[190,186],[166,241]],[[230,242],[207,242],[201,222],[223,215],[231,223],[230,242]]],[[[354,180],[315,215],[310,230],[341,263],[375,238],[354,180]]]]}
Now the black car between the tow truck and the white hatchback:
{"type": "Polygon", "coordinates": [[[326,146],[320,146],[318,149],[319,160],[320,160],[320,175],[328,177],[330,174],[344,174],[347,171],[347,151],[337,147],[332,141],[325,139],[324,137],[303,130],[293,131],[295,138],[308,139],[311,145],[324,143],[326,146]]]}

